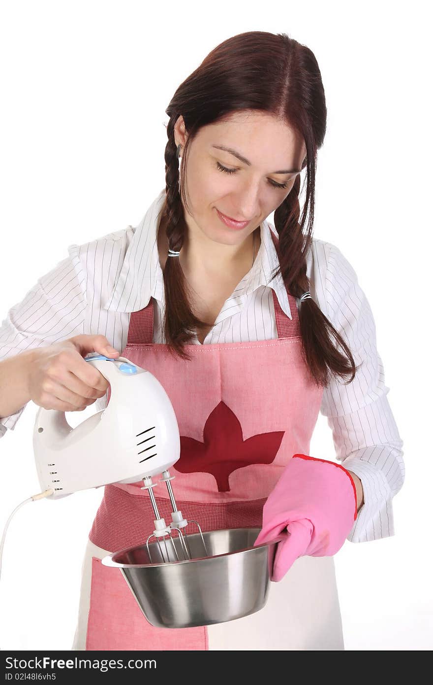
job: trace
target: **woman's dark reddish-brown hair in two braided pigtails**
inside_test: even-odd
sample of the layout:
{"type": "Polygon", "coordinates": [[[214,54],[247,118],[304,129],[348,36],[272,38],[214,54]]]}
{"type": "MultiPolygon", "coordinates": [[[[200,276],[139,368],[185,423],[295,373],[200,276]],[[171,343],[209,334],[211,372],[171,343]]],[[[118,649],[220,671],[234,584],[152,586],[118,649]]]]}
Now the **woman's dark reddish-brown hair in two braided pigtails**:
{"type": "MultiPolygon", "coordinates": [[[[315,169],[317,150],[322,147],[325,136],[326,103],[322,77],[313,52],[287,34],[252,31],[224,40],[174,93],[166,109],[170,119],[165,153],[166,200],[161,212],[168,245],[170,249],[179,251],[187,230],[182,201],[188,208],[184,190],[190,142],[200,127],[225,121],[233,113],[243,110],[272,114],[304,138],[306,159],[302,168],[306,166],[306,195],[302,216],[298,197],[300,175],[274,212],[280,260],[274,275],[280,272],[291,295],[300,297],[309,290],[306,253],[312,242],[315,169]],[[180,115],[185,121],[187,140],[179,179],[174,125],[180,115]]],[[[163,281],[166,344],[172,353],[189,360],[183,345],[190,343],[196,328],[212,326],[213,322],[200,321],[192,311],[179,259],[166,260],[163,281]]],[[[330,372],[350,375],[347,382],[352,382],[357,367],[350,348],[313,299],[302,302],[299,318],[302,355],[315,383],[327,385],[330,372]],[[332,337],[345,354],[334,346],[332,337]]]]}

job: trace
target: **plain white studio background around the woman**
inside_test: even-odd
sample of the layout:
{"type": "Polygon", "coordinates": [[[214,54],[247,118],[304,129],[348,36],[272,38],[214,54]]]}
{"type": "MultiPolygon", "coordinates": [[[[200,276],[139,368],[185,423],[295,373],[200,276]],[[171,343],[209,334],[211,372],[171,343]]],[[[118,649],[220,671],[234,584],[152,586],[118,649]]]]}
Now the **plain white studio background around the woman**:
{"type": "MultiPolygon", "coordinates": [[[[264,30],[313,50],[328,107],[315,236],[341,249],[369,299],[406,463],[396,535],[346,541],[335,558],[345,648],[431,649],[427,3],[220,1],[212,14],[188,0],[0,7],[0,320],[68,245],[140,221],[165,185],[165,108],[215,45],[264,30]]],[[[40,491],[36,411],[30,402],[0,441],[0,535],[15,506],[40,491]]],[[[77,425],[91,413],[67,416],[77,425]]],[[[323,416],[311,454],[334,458],[323,416]]],[[[102,494],[31,502],[15,514],[0,580],[1,649],[70,649],[102,494]]]]}

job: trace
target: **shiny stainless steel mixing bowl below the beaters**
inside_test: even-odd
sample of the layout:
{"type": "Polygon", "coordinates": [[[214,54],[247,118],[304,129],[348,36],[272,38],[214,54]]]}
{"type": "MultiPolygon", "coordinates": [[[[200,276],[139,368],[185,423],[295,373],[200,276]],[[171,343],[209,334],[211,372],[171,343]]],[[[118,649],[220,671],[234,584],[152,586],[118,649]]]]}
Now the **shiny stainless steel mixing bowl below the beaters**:
{"type": "MultiPolygon", "coordinates": [[[[140,609],[152,625],[187,628],[233,621],[259,611],[267,601],[270,571],[278,536],[253,547],[260,528],[231,528],[190,534],[191,560],[150,563],[158,558],[157,543],[130,547],[101,561],[120,569],[140,609]]],[[[179,537],[174,546],[183,558],[179,537]]],[[[170,546],[168,546],[170,549],[170,546]]]]}

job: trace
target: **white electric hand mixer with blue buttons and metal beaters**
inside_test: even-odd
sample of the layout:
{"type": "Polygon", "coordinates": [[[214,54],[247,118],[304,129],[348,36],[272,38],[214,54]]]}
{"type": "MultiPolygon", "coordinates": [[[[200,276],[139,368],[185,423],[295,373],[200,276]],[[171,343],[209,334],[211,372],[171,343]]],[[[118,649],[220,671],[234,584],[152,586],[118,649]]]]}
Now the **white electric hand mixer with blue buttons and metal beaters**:
{"type": "MultiPolygon", "coordinates": [[[[107,379],[111,396],[107,408],[72,428],[62,411],[40,408],[34,426],[34,455],[41,487],[53,489],[50,499],[66,497],[77,490],[113,483],[144,482],[155,512],[156,538],[161,560],[170,560],[171,541],[175,558],[179,554],[172,532],[179,534],[183,560],[191,559],[187,536],[182,530],[195,523],[205,556],[207,550],[200,525],[186,521],[176,506],[168,469],[180,457],[179,426],[166,390],[157,378],[126,357],[111,359],[97,355],[85,359],[107,379]],[[172,522],[159,515],[152,488],[153,476],[161,474],[172,506],[172,522]],[[163,545],[161,545],[163,542],[163,545]],[[169,543],[170,544],[170,543],[169,543]]],[[[155,546],[155,545],[153,545],[155,546]]]]}

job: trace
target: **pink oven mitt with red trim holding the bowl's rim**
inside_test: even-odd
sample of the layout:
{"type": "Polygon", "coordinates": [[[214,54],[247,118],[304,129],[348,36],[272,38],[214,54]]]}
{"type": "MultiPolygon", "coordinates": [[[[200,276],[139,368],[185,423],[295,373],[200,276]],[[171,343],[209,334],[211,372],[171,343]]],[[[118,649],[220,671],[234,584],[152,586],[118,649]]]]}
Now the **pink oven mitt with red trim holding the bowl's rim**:
{"type": "Polygon", "coordinates": [[[341,464],[295,454],[263,507],[263,526],[254,543],[279,534],[271,580],[278,581],[300,556],[332,556],[356,521],[356,487],[341,464]]]}

